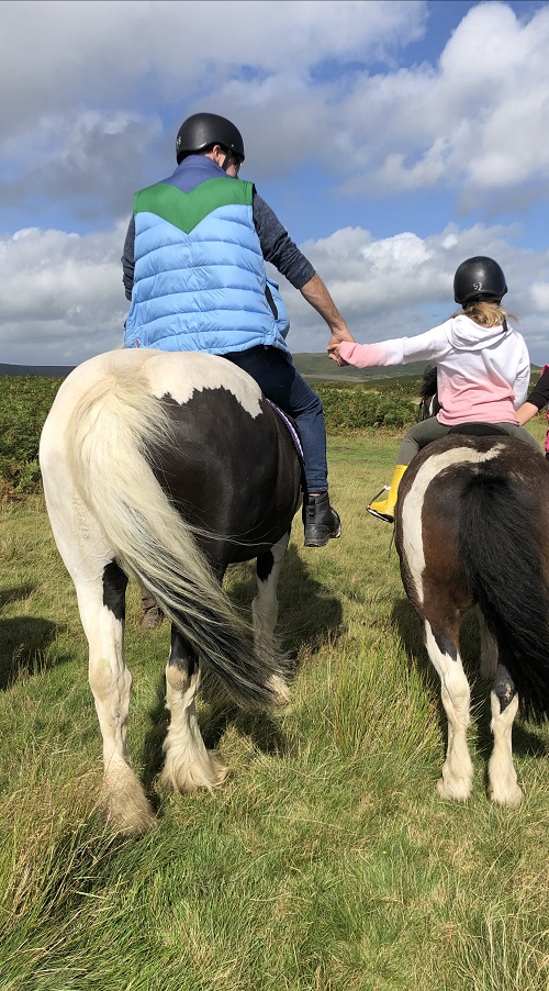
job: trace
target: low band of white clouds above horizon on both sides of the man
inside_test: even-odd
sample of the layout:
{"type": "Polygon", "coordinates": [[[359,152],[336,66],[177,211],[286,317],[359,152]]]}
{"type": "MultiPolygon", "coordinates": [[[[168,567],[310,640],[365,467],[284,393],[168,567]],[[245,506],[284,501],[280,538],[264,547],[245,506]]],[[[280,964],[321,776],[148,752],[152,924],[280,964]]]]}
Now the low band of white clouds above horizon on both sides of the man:
{"type": "MultiPolygon", "coordinates": [[[[455,309],[458,265],[482,253],[495,257],[509,285],[509,308],[539,364],[547,354],[549,252],[512,247],[513,227],[450,224],[421,238],[413,233],[372,238],[361,227],[336,231],[302,245],[328,286],[351,333],[361,342],[419,333],[455,309]]],[[[125,225],[85,236],[27,229],[0,240],[0,360],[13,364],[76,364],[119,347],[127,303],[120,255],[125,225]]],[[[281,279],[290,311],[294,352],[321,352],[324,322],[281,279]]]]}

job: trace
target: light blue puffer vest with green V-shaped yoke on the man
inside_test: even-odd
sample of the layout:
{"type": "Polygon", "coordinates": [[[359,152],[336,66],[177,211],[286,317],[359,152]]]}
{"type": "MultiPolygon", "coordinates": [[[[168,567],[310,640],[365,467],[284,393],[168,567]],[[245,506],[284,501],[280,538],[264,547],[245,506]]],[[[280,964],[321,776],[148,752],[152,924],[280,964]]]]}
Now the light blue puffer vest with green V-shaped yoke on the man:
{"type": "Polygon", "coordinates": [[[253,192],[251,182],[221,176],[189,192],[167,181],[135,194],[126,347],[288,350],[265,294],[253,192]]]}

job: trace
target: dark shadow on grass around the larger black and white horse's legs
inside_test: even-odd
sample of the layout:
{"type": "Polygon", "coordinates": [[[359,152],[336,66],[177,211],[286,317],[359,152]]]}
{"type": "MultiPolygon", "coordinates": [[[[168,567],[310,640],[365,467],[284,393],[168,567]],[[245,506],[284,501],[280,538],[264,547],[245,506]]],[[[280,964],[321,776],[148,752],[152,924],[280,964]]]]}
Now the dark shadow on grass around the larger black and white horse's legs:
{"type": "MultiPolygon", "coordinates": [[[[315,552],[313,552],[315,553],[315,552]]],[[[322,550],[320,552],[322,554],[322,550]]],[[[255,568],[235,569],[229,587],[229,597],[243,610],[249,610],[256,594],[255,568]]],[[[341,626],[341,605],[326,593],[322,582],[312,578],[306,565],[294,546],[290,546],[284,557],[278,587],[279,624],[282,650],[289,656],[289,680],[299,669],[298,655],[303,646],[314,650],[323,641],[337,639],[341,626]]],[[[284,753],[287,741],[276,719],[269,712],[245,711],[226,699],[223,687],[215,676],[209,676],[203,698],[209,703],[200,712],[200,727],[209,749],[215,749],[229,726],[235,726],[248,736],[254,745],[265,754],[284,753]]],[[[143,748],[145,767],[143,779],[150,789],[154,778],[163,766],[163,743],[168,730],[168,713],[165,709],[164,678],[158,683],[157,702],[149,713],[150,728],[143,748]]]]}

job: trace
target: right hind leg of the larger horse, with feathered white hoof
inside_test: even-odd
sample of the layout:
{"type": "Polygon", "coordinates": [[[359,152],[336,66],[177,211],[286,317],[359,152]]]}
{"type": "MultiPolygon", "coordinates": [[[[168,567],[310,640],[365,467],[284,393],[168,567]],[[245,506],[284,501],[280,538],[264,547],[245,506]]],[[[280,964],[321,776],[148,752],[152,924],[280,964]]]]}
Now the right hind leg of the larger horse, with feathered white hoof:
{"type": "Polygon", "coordinates": [[[164,784],[176,791],[212,791],[226,778],[227,768],[215,751],[206,750],[199,728],[195,695],[200,670],[192,649],[172,627],[171,653],[166,666],[166,708],[171,720],[164,743],[164,784]]]}

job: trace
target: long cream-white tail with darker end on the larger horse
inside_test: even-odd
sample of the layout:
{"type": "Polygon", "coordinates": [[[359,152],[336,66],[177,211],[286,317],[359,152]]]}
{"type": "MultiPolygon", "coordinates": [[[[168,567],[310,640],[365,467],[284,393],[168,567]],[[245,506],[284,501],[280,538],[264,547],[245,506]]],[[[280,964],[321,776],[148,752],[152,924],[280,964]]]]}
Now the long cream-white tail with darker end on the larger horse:
{"type": "MultiPolygon", "coordinates": [[[[163,403],[143,374],[116,369],[87,388],[67,432],[69,471],[120,567],[155,599],[239,704],[288,701],[276,649],[223,592],[197,537],[158,483],[146,452],[170,444],[163,403]]],[[[212,535],[209,534],[211,537],[212,535]]]]}

